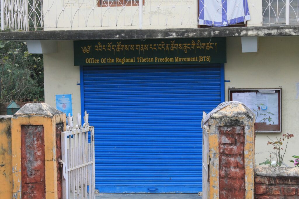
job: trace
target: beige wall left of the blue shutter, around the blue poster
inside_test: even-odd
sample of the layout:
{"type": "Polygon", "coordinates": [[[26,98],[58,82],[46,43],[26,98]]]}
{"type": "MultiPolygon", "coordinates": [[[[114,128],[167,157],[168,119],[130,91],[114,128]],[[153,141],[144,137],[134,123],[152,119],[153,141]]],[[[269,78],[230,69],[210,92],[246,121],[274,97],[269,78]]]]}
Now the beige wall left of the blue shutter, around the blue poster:
{"type": "Polygon", "coordinates": [[[73,41],[59,41],[58,53],[44,54],[44,73],[45,102],[56,107],[55,95],[72,94],[73,115],[77,116],[81,112],[80,68],[74,66],[73,41]]]}

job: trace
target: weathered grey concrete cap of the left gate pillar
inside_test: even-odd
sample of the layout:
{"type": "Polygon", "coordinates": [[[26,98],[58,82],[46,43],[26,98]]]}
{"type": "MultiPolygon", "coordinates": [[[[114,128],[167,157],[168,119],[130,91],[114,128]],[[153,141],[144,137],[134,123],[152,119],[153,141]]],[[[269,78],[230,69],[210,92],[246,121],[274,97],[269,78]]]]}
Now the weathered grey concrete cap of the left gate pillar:
{"type": "Polygon", "coordinates": [[[63,112],[48,105],[47,103],[28,103],[19,109],[13,116],[46,116],[53,117],[61,115],[63,112]]]}

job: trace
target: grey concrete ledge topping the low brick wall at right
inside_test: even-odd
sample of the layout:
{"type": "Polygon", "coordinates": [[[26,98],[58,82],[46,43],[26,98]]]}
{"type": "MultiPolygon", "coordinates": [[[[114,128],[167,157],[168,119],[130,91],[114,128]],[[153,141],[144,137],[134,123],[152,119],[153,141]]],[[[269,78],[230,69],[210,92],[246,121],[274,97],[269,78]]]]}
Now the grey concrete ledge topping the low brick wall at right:
{"type": "Polygon", "coordinates": [[[257,176],[268,177],[299,177],[299,167],[255,167],[255,174],[257,176]]]}

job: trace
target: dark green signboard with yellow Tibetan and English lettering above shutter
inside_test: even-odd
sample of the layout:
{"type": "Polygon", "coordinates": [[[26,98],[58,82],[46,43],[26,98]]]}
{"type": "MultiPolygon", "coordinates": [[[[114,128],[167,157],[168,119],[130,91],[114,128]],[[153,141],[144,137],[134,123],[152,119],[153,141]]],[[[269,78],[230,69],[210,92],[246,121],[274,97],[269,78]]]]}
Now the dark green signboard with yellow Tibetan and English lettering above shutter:
{"type": "Polygon", "coordinates": [[[226,63],[225,38],[74,41],[74,65],[226,63]]]}

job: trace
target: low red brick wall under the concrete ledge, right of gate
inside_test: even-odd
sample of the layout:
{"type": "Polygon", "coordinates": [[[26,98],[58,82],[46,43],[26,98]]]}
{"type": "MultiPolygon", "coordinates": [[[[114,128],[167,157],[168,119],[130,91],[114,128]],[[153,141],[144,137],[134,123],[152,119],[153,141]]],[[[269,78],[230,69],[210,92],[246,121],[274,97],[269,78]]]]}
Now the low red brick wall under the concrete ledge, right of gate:
{"type": "MultiPolygon", "coordinates": [[[[264,167],[264,169],[267,169],[267,167],[264,167]]],[[[270,170],[269,172],[272,171],[270,170]]],[[[285,171],[280,175],[284,174],[286,174],[285,171]]],[[[299,198],[299,177],[297,176],[258,176],[255,174],[254,182],[256,199],[299,198]]]]}

